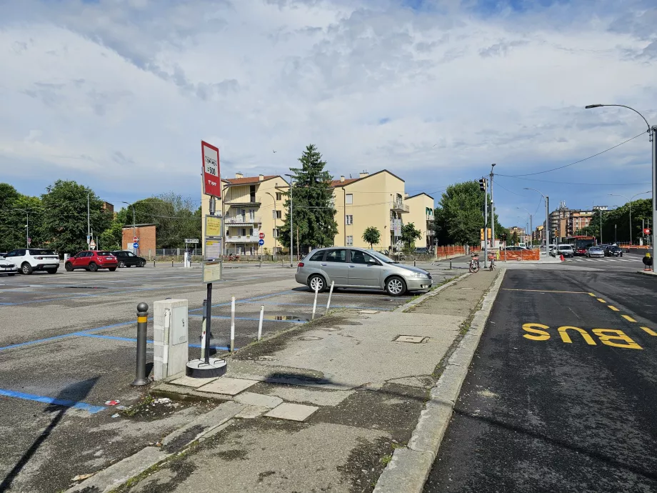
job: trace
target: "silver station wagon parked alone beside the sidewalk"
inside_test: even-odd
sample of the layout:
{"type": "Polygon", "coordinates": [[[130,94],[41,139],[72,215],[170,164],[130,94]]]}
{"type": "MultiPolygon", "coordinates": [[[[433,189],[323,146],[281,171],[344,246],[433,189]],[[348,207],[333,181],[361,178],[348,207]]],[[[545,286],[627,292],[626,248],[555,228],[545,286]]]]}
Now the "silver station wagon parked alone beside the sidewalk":
{"type": "Polygon", "coordinates": [[[385,289],[391,296],[433,285],[429,272],[362,248],[316,249],[299,262],[295,279],[313,291],[325,291],[333,282],[335,287],[385,289]]]}

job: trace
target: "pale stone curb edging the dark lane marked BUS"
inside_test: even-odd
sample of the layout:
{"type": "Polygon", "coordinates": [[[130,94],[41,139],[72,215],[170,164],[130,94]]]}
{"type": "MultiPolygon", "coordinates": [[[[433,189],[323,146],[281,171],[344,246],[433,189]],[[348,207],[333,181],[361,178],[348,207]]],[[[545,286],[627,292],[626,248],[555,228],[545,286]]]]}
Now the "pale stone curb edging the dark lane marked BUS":
{"type": "MultiPolygon", "coordinates": [[[[500,290],[505,272],[506,269],[500,269],[500,274],[493,286],[483,298],[481,309],[474,315],[470,329],[448,359],[443,374],[431,389],[429,400],[420,414],[420,419],[407,447],[395,450],[392,460],[378,478],[373,493],[421,493],[423,491],[424,483],[438,456],[438,449],[451,419],[454,404],[468,374],[468,367],[476,352],[481,334],[483,334],[483,327],[491,314],[493,302],[500,290]]],[[[456,281],[458,279],[454,279],[453,282],[456,281]]],[[[447,287],[448,284],[443,284],[443,286],[447,287]]]]}

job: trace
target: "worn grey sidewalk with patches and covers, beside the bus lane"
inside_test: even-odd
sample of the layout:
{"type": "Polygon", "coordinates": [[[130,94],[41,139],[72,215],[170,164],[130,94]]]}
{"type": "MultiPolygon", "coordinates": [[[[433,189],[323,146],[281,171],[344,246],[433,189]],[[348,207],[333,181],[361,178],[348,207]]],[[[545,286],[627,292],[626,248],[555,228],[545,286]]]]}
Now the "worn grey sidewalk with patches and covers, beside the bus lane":
{"type": "MultiPolygon", "coordinates": [[[[133,477],[117,491],[371,492],[393,453],[417,438],[430,391],[498,274],[464,274],[406,311],[350,310],[296,327],[229,357],[219,379],[158,384],[173,399],[223,402],[217,418],[69,491],[106,492],[133,477]]],[[[435,430],[419,433],[435,442],[435,430]]],[[[431,462],[402,477],[423,484],[431,462]]]]}

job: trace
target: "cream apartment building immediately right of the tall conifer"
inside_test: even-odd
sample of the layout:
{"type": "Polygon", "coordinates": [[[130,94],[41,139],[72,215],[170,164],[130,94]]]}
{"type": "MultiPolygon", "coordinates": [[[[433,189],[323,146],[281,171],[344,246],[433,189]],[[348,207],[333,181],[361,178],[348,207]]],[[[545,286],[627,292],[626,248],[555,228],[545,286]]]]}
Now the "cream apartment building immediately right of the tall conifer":
{"type": "Polygon", "coordinates": [[[368,226],[381,231],[381,242],[375,249],[390,249],[401,241],[403,216],[410,211],[404,203],[403,179],[382,169],[373,174],[363,171],[358,178],[340,176],[331,186],[338,223],[334,244],[369,248],[363,241],[368,226]]]}

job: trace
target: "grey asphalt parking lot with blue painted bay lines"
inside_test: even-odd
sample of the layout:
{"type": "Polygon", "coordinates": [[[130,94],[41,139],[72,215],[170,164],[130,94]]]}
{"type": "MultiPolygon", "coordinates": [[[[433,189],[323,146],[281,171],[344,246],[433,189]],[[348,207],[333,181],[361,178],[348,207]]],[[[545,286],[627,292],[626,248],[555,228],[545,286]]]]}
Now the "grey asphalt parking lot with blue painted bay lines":
{"type": "MultiPolygon", "coordinates": [[[[459,273],[444,266],[426,267],[436,282],[459,273]]],[[[336,289],[331,308],[392,310],[413,295],[393,298],[385,292],[336,289]]],[[[150,371],[154,301],[189,300],[191,359],[200,355],[205,296],[198,268],[60,269],[52,275],[0,277],[0,427],[11,444],[0,452],[0,469],[11,479],[11,489],[65,488],[66,478],[97,470],[156,442],[176,419],[183,419],[184,413],[177,413],[149,426],[126,425],[123,420],[117,426],[111,418],[114,408],[104,403],[119,399],[131,404],[144,390],[130,386],[135,371],[136,305],[146,302],[150,307],[150,371]],[[52,474],[56,470],[64,472],[52,474]],[[49,477],[51,482],[54,475],[64,483],[45,481],[49,477]]],[[[212,304],[211,344],[220,352],[229,345],[231,297],[236,297],[236,348],[255,339],[261,306],[266,335],[306,322],[314,302],[314,293],[294,281],[294,269],[225,269],[224,280],[214,284],[212,304]]],[[[324,314],[327,299],[328,293],[319,294],[318,315],[324,314]]]]}

